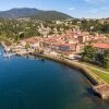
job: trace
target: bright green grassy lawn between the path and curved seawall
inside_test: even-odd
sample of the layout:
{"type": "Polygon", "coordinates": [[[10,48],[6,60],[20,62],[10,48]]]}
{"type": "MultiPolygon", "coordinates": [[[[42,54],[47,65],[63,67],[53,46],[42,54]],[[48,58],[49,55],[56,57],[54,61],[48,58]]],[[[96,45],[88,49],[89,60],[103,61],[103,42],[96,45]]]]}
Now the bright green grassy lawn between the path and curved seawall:
{"type": "Polygon", "coordinates": [[[101,77],[102,80],[105,80],[107,83],[109,83],[109,74],[105,74],[100,71],[94,70],[88,68],[93,73],[97,74],[99,77],[101,77]]]}

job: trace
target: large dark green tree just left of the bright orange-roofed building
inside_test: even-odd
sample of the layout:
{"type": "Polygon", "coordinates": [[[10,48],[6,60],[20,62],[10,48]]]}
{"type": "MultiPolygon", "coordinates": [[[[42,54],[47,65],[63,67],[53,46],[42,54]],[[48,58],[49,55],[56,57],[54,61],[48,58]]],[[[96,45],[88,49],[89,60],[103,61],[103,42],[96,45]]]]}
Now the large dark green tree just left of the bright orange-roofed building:
{"type": "Polygon", "coordinates": [[[96,50],[92,46],[86,46],[84,52],[82,53],[82,59],[84,61],[94,62],[95,61],[96,50]]]}

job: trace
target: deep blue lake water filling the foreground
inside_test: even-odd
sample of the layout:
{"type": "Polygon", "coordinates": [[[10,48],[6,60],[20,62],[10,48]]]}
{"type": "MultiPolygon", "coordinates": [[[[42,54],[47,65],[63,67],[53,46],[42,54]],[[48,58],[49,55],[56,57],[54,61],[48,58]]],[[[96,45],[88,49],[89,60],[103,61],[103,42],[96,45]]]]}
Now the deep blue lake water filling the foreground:
{"type": "Polygon", "coordinates": [[[2,57],[0,47],[0,109],[109,109],[88,90],[77,70],[49,60],[2,57]]]}

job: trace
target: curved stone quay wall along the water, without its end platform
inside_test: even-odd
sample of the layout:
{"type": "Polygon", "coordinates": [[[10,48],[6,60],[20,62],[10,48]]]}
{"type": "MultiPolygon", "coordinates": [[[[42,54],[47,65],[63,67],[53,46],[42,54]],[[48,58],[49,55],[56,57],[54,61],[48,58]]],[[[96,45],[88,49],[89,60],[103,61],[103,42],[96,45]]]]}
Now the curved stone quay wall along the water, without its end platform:
{"type": "MultiPolygon", "coordinates": [[[[38,57],[41,57],[41,58],[46,58],[46,59],[49,59],[49,60],[52,60],[52,61],[56,61],[56,62],[60,62],[62,64],[65,64],[70,68],[74,68],[74,69],[77,69],[80,70],[87,78],[88,81],[93,84],[93,85],[99,85],[101,84],[97,78],[94,78],[94,76],[92,76],[92,72],[86,69],[85,66],[82,66],[82,65],[78,65],[76,64],[75,62],[73,62],[73,60],[68,60],[68,59],[64,59],[64,58],[60,58],[60,57],[55,57],[55,56],[51,56],[51,55],[37,55],[37,53],[33,53],[34,56],[38,56],[38,57]]],[[[102,80],[101,80],[102,81],[102,80]]],[[[102,81],[104,83],[104,81],[102,81]]]]}

